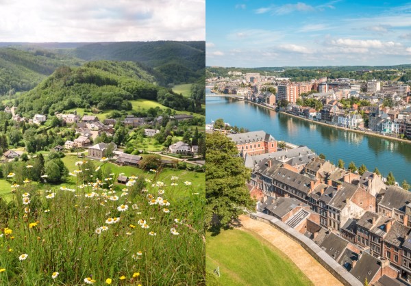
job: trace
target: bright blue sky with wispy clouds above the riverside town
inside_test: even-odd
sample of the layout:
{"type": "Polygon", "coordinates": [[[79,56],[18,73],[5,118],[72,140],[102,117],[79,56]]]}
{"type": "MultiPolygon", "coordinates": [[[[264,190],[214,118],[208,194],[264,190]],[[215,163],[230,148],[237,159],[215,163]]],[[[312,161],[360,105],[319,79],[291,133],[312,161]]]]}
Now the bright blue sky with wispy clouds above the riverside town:
{"type": "Polygon", "coordinates": [[[411,64],[411,2],[206,1],[208,66],[411,64]]]}

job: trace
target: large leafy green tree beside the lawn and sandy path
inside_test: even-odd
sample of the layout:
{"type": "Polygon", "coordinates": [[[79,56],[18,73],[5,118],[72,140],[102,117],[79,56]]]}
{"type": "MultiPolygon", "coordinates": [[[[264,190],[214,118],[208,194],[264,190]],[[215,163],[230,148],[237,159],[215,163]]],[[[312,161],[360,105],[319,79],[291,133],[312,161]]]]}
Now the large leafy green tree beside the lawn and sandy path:
{"type": "Polygon", "coordinates": [[[207,229],[220,229],[243,213],[255,208],[245,185],[250,171],[238,157],[236,144],[220,133],[206,136],[206,213],[207,229]]]}

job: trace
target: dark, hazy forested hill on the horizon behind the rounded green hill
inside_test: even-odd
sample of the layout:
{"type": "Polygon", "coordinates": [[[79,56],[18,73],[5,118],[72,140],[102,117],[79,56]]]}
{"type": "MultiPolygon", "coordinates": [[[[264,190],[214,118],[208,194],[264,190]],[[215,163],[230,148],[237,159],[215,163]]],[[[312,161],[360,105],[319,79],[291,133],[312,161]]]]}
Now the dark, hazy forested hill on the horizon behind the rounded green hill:
{"type": "Polygon", "coordinates": [[[93,43],[72,51],[83,60],[140,62],[166,85],[198,82],[205,75],[206,42],[111,42],[93,43]]]}

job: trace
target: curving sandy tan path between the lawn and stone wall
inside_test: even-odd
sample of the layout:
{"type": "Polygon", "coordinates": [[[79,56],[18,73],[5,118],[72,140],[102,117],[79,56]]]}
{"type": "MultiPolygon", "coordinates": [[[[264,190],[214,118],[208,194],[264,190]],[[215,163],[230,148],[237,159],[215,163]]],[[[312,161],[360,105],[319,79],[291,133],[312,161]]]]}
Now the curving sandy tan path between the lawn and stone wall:
{"type": "Polygon", "coordinates": [[[316,261],[301,245],[284,233],[264,222],[253,220],[248,216],[240,216],[240,229],[251,231],[266,239],[276,248],[284,252],[297,267],[306,274],[314,285],[343,285],[323,265],[316,261]]]}

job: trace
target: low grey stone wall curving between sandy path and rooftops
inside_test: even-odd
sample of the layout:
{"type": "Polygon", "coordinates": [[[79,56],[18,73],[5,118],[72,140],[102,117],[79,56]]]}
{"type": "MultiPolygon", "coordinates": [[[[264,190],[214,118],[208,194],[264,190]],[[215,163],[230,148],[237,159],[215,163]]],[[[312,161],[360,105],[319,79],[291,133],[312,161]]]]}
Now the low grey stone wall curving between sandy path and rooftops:
{"type": "MultiPolygon", "coordinates": [[[[328,270],[334,277],[341,281],[344,285],[362,286],[362,283],[358,281],[351,273],[349,273],[343,266],[337,263],[332,257],[316,245],[311,239],[302,235],[295,229],[290,228],[287,224],[281,220],[274,218],[273,216],[266,215],[265,213],[249,213],[248,216],[253,220],[259,220],[270,224],[278,231],[281,231],[295,242],[300,244],[316,261],[319,261],[323,267],[328,270]]],[[[324,285],[327,285],[327,281],[324,281],[324,285]]]]}

